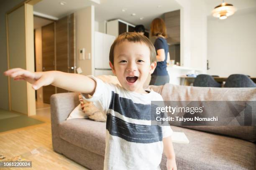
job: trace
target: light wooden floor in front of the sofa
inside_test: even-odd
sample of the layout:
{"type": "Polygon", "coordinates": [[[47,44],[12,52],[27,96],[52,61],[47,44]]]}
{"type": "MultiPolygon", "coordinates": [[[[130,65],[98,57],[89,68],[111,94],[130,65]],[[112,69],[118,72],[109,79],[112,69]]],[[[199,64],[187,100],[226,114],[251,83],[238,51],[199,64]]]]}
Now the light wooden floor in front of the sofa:
{"type": "MultiPolygon", "coordinates": [[[[88,170],[82,165],[69,160],[65,156],[55,153],[51,143],[51,122],[47,118],[49,112],[43,116],[33,116],[45,123],[30,127],[0,133],[0,155],[6,159],[20,156],[32,161],[32,168],[0,168],[1,170],[88,170]],[[32,154],[32,150],[39,153],[32,154]]],[[[4,161],[3,160],[3,161],[4,161]]]]}

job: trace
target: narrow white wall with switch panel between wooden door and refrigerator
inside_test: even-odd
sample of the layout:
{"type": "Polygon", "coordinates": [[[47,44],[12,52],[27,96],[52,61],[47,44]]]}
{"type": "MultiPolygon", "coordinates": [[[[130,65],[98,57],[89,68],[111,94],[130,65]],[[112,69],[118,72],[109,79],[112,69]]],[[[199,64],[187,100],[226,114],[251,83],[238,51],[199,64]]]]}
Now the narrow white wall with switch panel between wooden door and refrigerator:
{"type": "Polygon", "coordinates": [[[95,8],[85,7],[75,12],[76,16],[76,51],[77,67],[82,69],[83,75],[94,75],[94,32],[95,8]],[[90,59],[79,60],[79,49],[85,49],[85,55],[90,53],[90,59]]]}

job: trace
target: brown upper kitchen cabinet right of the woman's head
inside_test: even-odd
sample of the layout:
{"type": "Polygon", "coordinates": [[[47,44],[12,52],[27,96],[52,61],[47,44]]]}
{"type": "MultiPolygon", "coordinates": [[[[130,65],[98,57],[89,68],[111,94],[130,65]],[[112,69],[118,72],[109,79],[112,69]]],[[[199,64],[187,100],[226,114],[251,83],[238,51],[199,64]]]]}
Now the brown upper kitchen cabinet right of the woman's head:
{"type": "Polygon", "coordinates": [[[180,10],[164,13],[167,30],[167,42],[170,45],[180,44],[180,10]]]}

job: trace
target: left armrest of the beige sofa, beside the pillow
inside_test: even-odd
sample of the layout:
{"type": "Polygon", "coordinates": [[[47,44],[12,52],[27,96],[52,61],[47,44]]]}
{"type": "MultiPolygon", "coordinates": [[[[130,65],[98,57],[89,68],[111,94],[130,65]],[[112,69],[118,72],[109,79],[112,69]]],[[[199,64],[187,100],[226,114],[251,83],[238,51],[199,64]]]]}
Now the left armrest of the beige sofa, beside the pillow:
{"type": "Polygon", "coordinates": [[[51,95],[51,124],[59,124],[67,119],[69,114],[79,104],[79,93],[65,92],[51,95]]]}

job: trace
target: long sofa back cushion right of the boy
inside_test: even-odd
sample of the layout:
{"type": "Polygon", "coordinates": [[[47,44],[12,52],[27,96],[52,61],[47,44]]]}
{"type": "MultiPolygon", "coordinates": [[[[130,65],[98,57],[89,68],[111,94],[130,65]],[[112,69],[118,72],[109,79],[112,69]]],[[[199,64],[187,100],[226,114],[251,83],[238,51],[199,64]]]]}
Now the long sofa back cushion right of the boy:
{"type": "MultiPolygon", "coordinates": [[[[167,83],[154,91],[165,101],[255,101],[256,88],[191,87],[167,83]]],[[[151,88],[151,86],[149,86],[151,88]]],[[[256,115],[254,115],[256,117],[256,115]]],[[[186,126],[186,128],[256,141],[256,126],[186,126]]]]}

